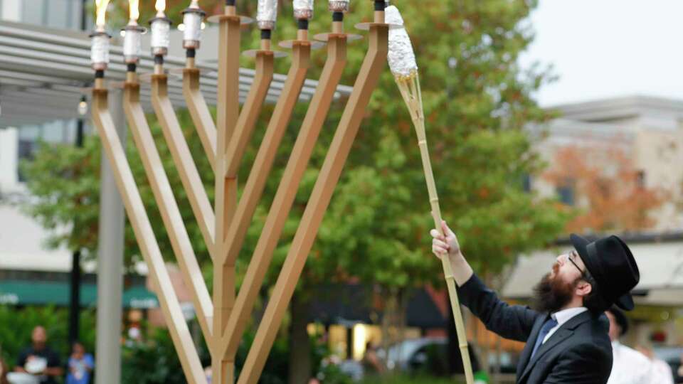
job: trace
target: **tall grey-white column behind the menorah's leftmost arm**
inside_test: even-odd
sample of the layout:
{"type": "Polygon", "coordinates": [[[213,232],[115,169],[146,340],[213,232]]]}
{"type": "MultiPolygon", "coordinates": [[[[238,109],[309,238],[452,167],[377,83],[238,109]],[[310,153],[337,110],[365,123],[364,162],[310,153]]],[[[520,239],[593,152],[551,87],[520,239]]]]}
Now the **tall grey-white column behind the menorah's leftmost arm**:
{"type": "MultiPolygon", "coordinates": [[[[121,91],[110,90],[109,109],[121,142],[125,144],[126,119],[121,91]]],[[[95,384],[120,384],[124,210],[112,167],[103,150],[101,178],[95,384]]]]}

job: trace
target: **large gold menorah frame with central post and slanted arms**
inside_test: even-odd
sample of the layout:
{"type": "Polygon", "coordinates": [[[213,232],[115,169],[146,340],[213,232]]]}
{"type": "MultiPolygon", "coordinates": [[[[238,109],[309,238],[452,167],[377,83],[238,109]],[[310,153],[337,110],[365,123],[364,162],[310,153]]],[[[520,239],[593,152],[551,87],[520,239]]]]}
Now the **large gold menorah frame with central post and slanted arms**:
{"type": "MultiPolygon", "coordinates": [[[[280,270],[272,297],[268,301],[263,319],[258,324],[258,331],[238,378],[240,384],[256,383],[263,371],[282,317],[290,303],[323,215],[339,181],[351,144],[360,127],[364,110],[386,62],[388,25],[384,23],[385,2],[375,0],[374,4],[374,23],[364,25],[369,29],[369,48],[285,263],[280,270]]],[[[196,12],[192,9],[189,11],[196,12]]],[[[340,11],[335,12],[332,31],[319,36],[327,41],[327,61],[300,127],[284,176],[277,188],[263,232],[250,259],[244,282],[236,295],[235,260],[262,196],[277,148],[290,122],[292,110],[309,68],[313,42],[308,39],[307,23],[299,23],[297,39],[288,43],[292,48],[292,65],[239,201],[238,168],[273,76],[275,53],[270,49],[270,31],[262,31],[260,50],[251,52],[255,56],[256,75],[240,111],[238,57],[240,25],[245,22],[245,18],[237,15],[234,0],[226,1],[223,15],[214,16],[220,28],[218,114],[215,124],[199,90],[200,73],[194,63],[194,53],[198,44],[188,44],[185,47],[188,58],[183,71],[184,97],[203,148],[206,150],[205,155],[208,156],[216,175],[216,197],[213,207],[194,164],[193,156],[198,154],[192,154],[189,150],[168,97],[168,79],[164,71],[163,53],[155,53],[156,65],[151,80],[152,105],[213,260],[213,299],[203,281],[173,188],[166,177],[162,160],[140,105],[140,85],[134,61],[128,64],[124,95],[127,122],[169,233],[176,260],[186,284],[191,287],[198,323],[211,352],[213,384],[235,382],[235,353],[238,344],[243,338],[272,254],[346,64],[346,43],[349,35],[344,33],[342,15],[340,11]]],[[[206,383],[203,368],[171,286],[152,225],[107,109],[104,70],[95,69],[97,72],[92,92],[92,116],[95,126],[100,132],[107,158],[115,171],[117,187],[140,250],[157,286],[159,302],[185,376],[189,383],[206,383]]]]}

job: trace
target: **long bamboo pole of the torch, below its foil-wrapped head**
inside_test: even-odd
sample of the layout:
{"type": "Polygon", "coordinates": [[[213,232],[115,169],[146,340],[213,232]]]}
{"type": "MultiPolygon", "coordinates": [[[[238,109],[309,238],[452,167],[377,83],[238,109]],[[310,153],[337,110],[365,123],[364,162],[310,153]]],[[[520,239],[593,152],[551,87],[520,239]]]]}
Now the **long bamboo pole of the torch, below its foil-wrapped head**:
{"type": "MultiPolygon", "coordinates": [[[[422,156],[422,166],[425,173],[425,181],[427,182],[429,203],[432,208],[434,225],[439,233],[443,235],[443,230],[441,229],[441,209],[439,208],[439,197],[436,191],[436,183],[434,181],[432,164],[429,159],[427,135],[425,134],[425,115],[422,104],[422,92],[420,90],[420,78],[418,73],[415,72],[415,74],[409,78],[396,78],[396,84],[398,85],[398,89],[401,90],[401,96],[403,96],[403,100],[406,102],[406,105],[408,105],[408,110],[411,112],[411,119],[413,119],[415,133],[418,137],[420,156],[422,156]]],[[[465,330],[465,324],[462,321],[462,313],[460,312],[460,302],[457,299],[455,277],[453,276],[452,267],[448,257],[441,257],[441,265],[443,267],[443,274],[446,279],[446,287],[448,287],[448,298],[450,299],[450,306],[452,307],[453,311],[453,319],[455,319],[457,343],[460,347],[460,356],[462,356],[462,366],[465,369],[465,380],[467,380],[467,384],[473,384],[474,375],[472,374],[470,353],[467,350],[467,334],[465,330]]]]}

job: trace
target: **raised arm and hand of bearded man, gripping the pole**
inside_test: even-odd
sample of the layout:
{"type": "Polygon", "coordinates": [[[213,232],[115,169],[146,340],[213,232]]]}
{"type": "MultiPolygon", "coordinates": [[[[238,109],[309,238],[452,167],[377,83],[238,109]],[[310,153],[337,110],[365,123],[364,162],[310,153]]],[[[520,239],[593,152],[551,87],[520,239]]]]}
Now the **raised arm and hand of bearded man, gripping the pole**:
{"type": "Polygon", "coordinates": [[[482,320],[487,329],[517,341],[526,341],[539,313],[526,306],[511,306],[498,298],[474,274],[470,263],[460,251],[457,237],[445,222],[444,235],[432,230],[432,251],[438,257],[448,257],[452,267],[460,302],[482,320]]]}

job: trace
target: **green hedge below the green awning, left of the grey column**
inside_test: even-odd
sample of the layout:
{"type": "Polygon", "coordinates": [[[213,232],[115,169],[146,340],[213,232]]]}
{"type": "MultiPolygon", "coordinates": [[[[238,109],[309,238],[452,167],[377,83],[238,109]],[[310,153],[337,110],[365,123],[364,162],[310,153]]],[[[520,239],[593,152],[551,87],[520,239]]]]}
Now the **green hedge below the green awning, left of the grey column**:
{"type": "MultiPolygon", "coordinates": [[[[31,345],[31,332],[36,326],[45,327],[48,333],[48,346],[53,348],[65,363],[70,346],[68,345],[68,310],[53,306],[0,306],[0,356],[14,368],[19,352],[31,345]]],[[[85,350],[95,351],[95,311],[80,312],[80,341],[85,350]]]]}

